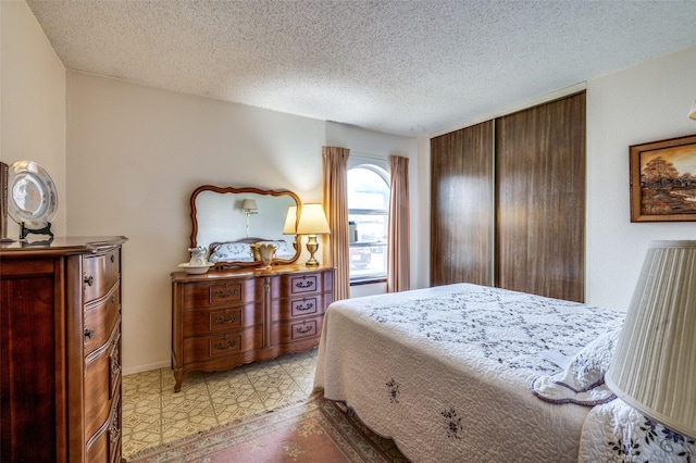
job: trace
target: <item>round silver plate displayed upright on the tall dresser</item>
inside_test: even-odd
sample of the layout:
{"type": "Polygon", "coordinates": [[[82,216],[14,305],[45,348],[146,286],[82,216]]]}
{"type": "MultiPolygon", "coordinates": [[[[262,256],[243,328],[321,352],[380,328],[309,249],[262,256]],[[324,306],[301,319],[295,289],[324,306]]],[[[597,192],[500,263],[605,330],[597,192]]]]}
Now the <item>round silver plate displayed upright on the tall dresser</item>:
{"type": "Polygon", "coordinates": [[[55,185],[48,172],[32,161],[17,161],[8,176],[8,214],[29,229],[48,225],[58,210],[55,185]]]}

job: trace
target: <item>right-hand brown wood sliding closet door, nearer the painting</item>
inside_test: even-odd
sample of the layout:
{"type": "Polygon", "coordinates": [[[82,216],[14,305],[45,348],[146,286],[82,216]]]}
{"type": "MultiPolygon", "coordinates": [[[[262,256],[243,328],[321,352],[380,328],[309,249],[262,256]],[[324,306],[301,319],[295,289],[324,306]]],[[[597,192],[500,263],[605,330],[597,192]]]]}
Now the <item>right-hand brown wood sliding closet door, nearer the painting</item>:
{"type": "Polygon", "coordinates": [[[496,286],[584,300],[585,93],[496,120],[496,286]]]}

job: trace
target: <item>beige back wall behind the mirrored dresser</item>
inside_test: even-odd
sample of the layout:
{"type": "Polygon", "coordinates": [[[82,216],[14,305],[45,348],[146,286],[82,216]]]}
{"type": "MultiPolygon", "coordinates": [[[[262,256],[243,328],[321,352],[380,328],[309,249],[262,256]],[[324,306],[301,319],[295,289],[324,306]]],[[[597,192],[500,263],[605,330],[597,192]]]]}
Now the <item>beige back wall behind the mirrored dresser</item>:
{"type": "Polygon", "coordinates": [[[125,235],[124,372],[166,366],[171,280],[203,184],[322,200],[322,146],[415,157],[414,139],[67,73],[69,234],[125,235]]]}

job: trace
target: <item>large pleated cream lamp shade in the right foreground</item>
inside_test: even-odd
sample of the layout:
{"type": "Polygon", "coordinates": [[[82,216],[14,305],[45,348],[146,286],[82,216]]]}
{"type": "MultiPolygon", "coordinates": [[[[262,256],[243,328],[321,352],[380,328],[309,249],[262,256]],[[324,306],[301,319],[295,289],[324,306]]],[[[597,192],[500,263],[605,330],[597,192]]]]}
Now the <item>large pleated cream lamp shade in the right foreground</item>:
{"type": "Polygon", "coordinates": [[[607,386],[669,429],[696,438],[696,241],[654,241],[607,386]]]}

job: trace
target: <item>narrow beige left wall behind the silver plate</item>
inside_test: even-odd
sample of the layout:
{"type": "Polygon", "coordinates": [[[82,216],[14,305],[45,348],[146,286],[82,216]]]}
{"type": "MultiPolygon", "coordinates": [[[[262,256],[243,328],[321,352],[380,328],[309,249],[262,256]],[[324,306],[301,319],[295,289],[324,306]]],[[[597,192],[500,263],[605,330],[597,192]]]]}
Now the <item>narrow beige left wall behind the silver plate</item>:
{"type": "MultiPolygon", "coordinates": [[[[65,235],[65,67],[23,1],[0,1],[0,161],[34,161],[58,191],[52,221],[65,235]]],[[[8,236],[20,227],[8,220],[8,236]]]]}

